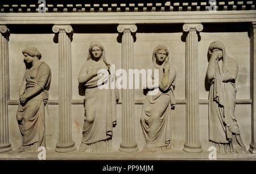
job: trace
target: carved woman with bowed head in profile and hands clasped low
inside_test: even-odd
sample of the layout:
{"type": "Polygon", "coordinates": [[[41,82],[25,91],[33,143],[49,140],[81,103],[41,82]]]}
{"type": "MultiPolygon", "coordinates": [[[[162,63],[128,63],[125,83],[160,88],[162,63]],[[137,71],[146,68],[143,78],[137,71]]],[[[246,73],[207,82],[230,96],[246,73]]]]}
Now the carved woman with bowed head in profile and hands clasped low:
{"type": "Polygon", "coordinates": [[[20,104],[16,112],[22,134],[22,146],[18,151],[38,151],[38,147],[46,147],[44,107],[51,84],[51,69],[45,62],[40,61],[42,56],[38,49],[30,47],[22,53],[26,73],[20,86],[20,104]]]}

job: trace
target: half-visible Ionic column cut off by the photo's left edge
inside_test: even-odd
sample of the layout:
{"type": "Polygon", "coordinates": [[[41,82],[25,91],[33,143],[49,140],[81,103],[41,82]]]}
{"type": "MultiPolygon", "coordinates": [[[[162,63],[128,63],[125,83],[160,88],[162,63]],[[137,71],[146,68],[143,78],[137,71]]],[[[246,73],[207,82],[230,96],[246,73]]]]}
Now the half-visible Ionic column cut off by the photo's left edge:
{"type": "Polygon", "coordinates": [[[6,26],[0,26],[0,152],[12,150],[9,142],[9,34],[6,26]]]}

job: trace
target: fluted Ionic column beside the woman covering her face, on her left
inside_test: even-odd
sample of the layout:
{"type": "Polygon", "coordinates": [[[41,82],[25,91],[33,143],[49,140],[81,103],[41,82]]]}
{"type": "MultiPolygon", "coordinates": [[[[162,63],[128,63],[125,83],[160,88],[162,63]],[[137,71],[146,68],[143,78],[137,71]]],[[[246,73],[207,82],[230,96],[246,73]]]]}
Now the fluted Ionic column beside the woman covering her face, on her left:
{"type": "Polygon", "coordinates": [[[199,139],[199,75],[198,75],[198,35],[202,24],[184,24],[186,36],[186,152],[201,152],[199,139]]]}

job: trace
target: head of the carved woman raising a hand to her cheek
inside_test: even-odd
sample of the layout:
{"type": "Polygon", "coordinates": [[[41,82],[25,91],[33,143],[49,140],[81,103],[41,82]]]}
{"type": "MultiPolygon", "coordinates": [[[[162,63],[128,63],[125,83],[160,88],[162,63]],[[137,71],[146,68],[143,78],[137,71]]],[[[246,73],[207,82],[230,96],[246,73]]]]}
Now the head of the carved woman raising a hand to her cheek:
{"type": "Polygon", "coordinates": [[[155,46],[154,53],[153,53],[153,61],[162,64],[165,61],[168,62],[168,55],[169,51],[167,46],[165,45],[157,45],[155,46]]]}

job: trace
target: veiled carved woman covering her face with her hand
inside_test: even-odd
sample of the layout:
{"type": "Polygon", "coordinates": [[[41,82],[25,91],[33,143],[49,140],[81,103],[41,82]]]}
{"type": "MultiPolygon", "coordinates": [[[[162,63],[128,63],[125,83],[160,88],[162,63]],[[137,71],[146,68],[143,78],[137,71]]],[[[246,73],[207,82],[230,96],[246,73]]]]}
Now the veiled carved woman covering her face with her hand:
{"type": "Polygon", "coordinates": [[[209,141],[217,152],[246,151],[234,116],[238,63],[226,54],[224,45],[209,45],[207,78],[209,92],[209,141]]]}

